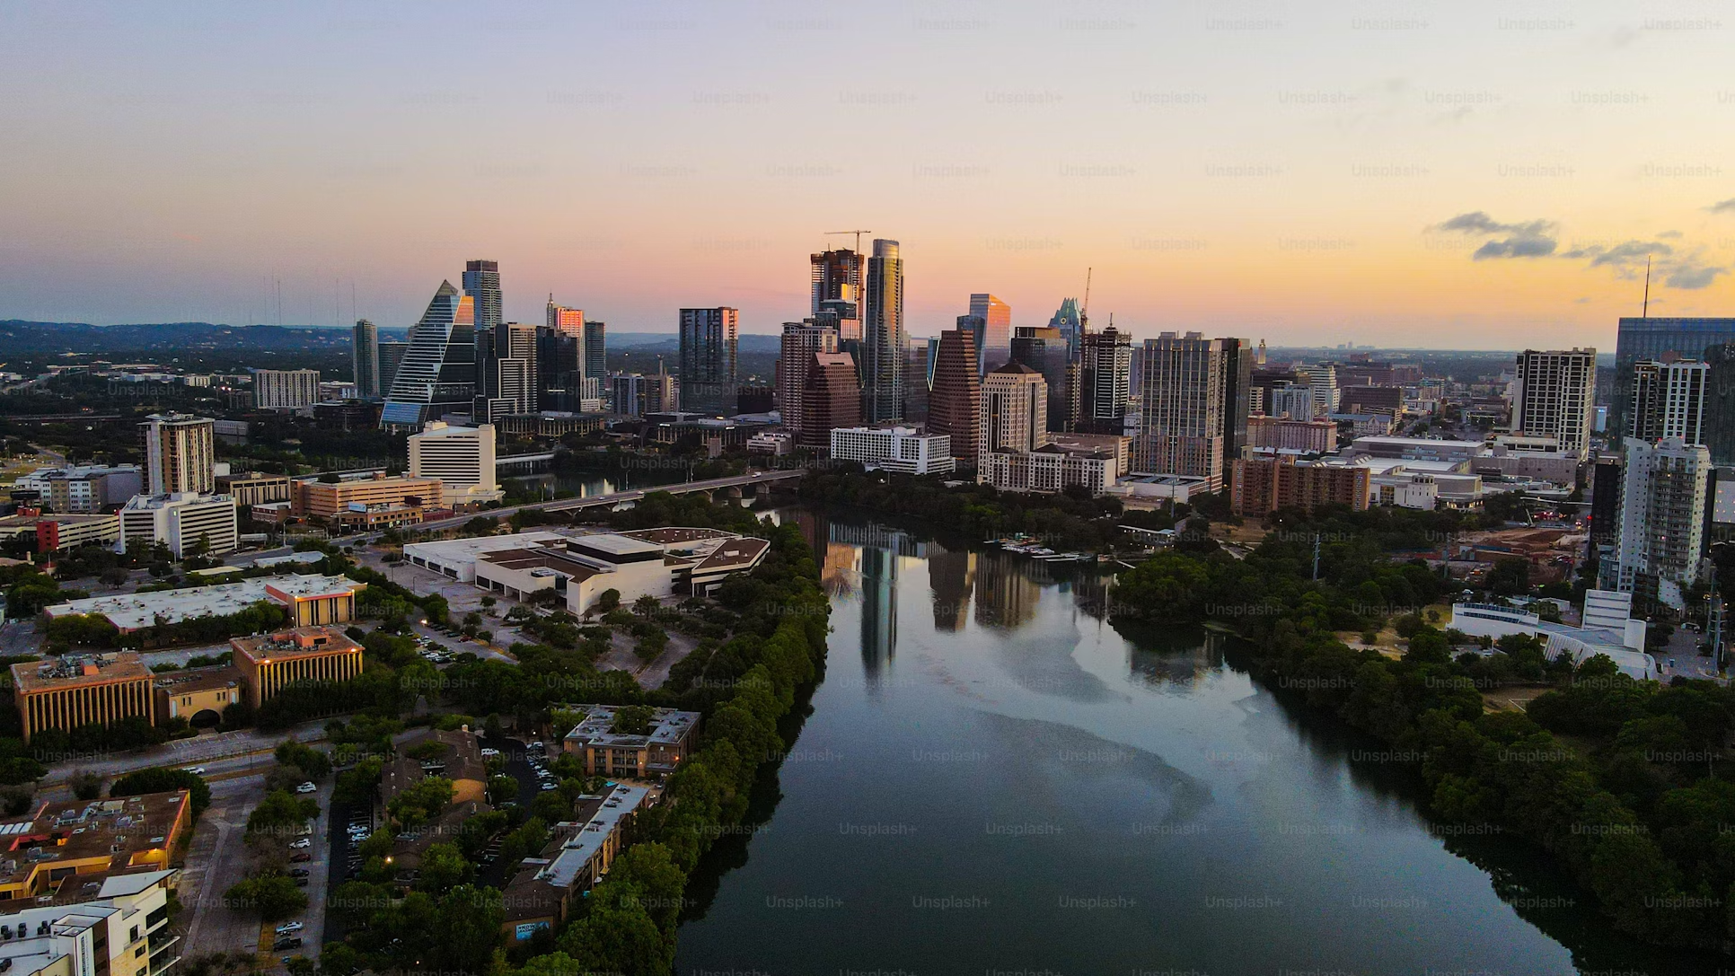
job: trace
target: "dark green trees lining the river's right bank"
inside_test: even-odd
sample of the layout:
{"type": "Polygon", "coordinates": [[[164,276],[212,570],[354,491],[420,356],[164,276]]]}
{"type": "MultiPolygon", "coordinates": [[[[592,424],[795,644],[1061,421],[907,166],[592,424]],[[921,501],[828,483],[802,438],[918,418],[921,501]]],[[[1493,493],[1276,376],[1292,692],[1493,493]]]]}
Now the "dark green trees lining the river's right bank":
{"type": "MultiPolygon", "coordinates": [[[[1109,541],[1123,520],[1091,517],[1067,496],[944,492],[918,478],[836,472],[800,487],[809,501],[979,537],[1109,541]]],[[[1437,548],[1464,520],[1393,508],[1279,511],[1246,558],[1187,532],[1117,576],[1109,615],[1246,638],[1265,685],[1390,745],[1388,761],[1421,777],[1435,820],[1548,851],[1612,927],[1638,941],[1735,952],[1735,773],[1718,765],[1735,732],[1735,692],[1685,678],[1636,681],[1607,657],[1548,662],[1534,638],[1485,650],[1438,629],[1426,607],[1457,582],[1405,553],[1437,548]],[[1400,657],[1338,636],[1386,624],[1404,640],[1400,657]],[[1525,712],[1483,706],[1485,690],[1537,683],[1549,690],[1525,712]]]]}

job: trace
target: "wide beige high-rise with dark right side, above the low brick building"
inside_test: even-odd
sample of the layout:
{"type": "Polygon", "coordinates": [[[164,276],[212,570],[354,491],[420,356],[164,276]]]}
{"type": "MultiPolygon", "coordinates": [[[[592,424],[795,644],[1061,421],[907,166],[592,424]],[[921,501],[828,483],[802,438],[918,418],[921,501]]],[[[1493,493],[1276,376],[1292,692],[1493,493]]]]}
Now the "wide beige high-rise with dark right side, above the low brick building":
{"type": "Polygon", "coordinates": [[[1209,478],[1223,491],[1234,409],[1228,400],[1235,340],[1201,333],[1162,333],[1145,340],[1143,411],[1133,440],[1133,468],[1209,478]]]}

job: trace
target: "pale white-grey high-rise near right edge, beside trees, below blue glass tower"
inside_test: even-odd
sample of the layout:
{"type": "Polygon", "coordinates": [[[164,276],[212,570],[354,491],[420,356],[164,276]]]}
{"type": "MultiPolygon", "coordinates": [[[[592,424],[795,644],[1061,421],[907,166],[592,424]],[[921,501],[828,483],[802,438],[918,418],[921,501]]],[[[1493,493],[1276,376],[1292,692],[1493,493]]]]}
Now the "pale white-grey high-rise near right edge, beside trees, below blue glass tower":
{"type": "Polygon", "coordinates": [[[1620,537],[1603,567],[1603,589],[1685,608],[1706,548],[1711,451],[1678,439],[1626,439],[1620,478],[1620,537]]]}

